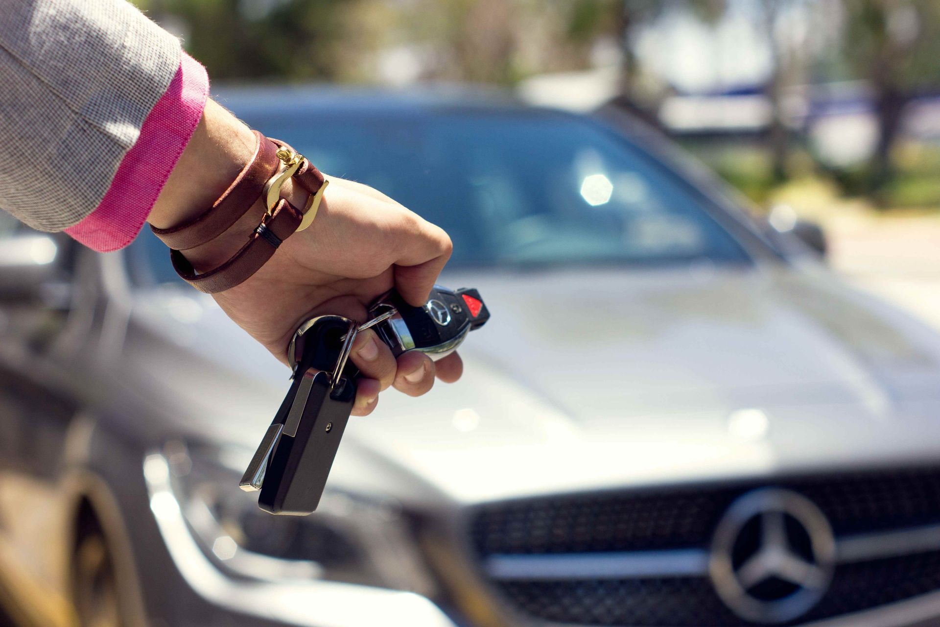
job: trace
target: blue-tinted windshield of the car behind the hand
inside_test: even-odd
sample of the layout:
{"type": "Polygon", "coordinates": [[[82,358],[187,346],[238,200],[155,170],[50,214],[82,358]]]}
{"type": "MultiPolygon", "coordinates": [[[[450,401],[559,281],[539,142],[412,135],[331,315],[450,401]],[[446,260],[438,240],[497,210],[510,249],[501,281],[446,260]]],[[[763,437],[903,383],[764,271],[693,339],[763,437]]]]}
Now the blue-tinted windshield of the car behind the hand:
{"type": "Polygon", "coordinates": [[[748,259],[682,180],[587,119],[531,110],[306,118],[246,121],[443,227],[450,267],[748,259]]]}

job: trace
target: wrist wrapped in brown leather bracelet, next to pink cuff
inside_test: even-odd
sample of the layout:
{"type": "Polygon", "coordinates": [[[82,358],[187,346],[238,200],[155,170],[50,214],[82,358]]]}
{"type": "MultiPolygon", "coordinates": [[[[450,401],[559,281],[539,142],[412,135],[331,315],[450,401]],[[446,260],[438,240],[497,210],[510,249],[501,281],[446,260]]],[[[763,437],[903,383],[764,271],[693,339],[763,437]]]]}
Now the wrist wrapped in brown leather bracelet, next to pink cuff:
{"type": "MultiPolygon", "coordinates": [[[[181,277],[199,290],[224,291],[255,274],[303,226],[325,185],[289,146],[209,102],[148,221],[175,249],[171,259],[181,277]],[[268,219],[272,194],[280,203],[268,219]]],[[[309,219],[315,216],[314,210],[309,219]]]]}

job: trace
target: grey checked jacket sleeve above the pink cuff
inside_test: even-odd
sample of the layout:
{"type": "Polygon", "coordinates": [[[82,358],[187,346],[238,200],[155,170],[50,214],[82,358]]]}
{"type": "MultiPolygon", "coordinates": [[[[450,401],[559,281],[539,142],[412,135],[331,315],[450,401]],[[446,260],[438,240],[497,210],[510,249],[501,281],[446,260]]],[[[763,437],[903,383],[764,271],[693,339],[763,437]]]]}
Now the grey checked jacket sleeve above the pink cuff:
{"type": "Polygon", "coordinates": [[[0,209],[81,221],[179,66],[180,41],[124,0],[0,0],[0,209]]]}

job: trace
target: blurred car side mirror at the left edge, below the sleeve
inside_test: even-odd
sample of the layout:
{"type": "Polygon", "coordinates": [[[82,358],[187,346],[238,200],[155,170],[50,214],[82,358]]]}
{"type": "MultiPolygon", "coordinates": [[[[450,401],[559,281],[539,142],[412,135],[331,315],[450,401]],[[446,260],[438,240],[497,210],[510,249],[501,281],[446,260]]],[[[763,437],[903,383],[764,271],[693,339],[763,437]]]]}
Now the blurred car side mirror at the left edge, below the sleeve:
{"type": "Polygon", "coordinates": [[[53,236],[35,231],[0,239],[0,300],[41,298],[60,274],[61,253],[53,236]]]}

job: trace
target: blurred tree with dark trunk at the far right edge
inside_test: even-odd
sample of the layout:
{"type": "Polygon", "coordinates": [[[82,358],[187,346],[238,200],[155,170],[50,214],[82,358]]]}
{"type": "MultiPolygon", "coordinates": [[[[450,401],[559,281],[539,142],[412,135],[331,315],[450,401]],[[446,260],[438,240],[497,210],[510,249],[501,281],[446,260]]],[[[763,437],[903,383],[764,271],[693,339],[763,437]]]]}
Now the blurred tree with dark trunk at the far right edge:
{"type": "Polygon", "coordinates": [[[904,108],[940,86],[940,3],[936,0],[845,0],[842,50],[853,73],[870,81],[878,117],[869,191],[895,175],[892,151],[904,108]]]}

